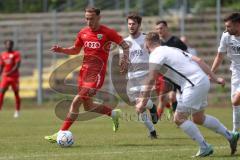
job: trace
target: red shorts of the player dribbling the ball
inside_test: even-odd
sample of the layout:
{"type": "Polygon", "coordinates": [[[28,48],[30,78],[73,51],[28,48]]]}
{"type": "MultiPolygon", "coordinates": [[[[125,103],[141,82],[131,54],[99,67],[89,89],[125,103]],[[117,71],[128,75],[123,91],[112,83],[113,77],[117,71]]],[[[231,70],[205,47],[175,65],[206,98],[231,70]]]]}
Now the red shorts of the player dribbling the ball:
{"type": "Polygon", "coordinates": [[[104,71],[98,74],[89,74],[88,71],[80,70],[78,77],[78,95],[82,98],[89,98],[96,94],[104,83],[104,71]]]}

